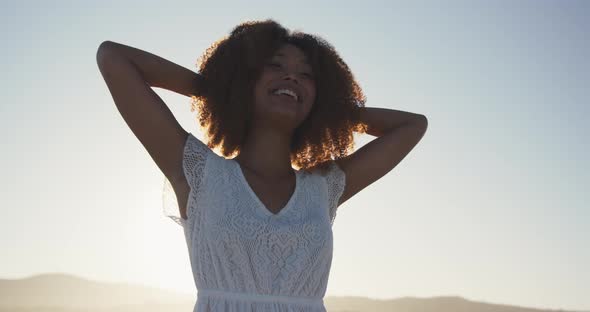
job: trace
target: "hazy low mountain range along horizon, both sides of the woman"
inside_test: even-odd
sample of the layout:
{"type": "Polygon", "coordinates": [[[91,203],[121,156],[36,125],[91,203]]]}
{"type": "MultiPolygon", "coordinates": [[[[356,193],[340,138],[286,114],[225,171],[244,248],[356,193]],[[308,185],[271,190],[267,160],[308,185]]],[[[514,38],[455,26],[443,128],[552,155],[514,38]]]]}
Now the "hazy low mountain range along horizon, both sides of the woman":
{"type": "MultiPolygon", "coordinates": [[[[192,312],[195,301],[196,294],[97,282],[67,274],[0,279],[0,312],[192,312]]],[[[326,297],[324,302],[329,312],[566,312],[475,302],[453,296],[390,300],[326,297]]]]}

